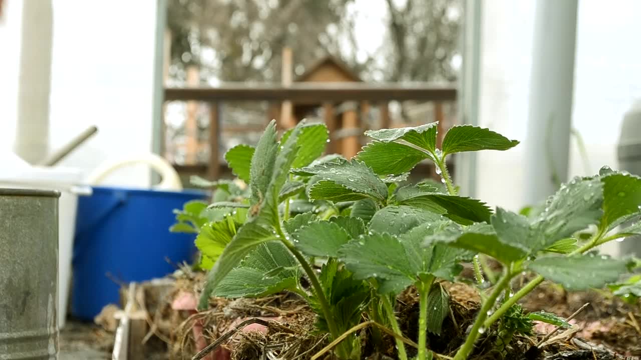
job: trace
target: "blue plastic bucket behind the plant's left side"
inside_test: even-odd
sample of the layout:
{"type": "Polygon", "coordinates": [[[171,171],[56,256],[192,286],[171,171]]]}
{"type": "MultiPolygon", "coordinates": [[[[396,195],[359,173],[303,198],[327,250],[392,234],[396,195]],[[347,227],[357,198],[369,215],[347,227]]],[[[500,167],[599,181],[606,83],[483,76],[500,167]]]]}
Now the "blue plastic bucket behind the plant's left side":
{"type": "Polygon", "coordinates": [[[194,235],[170,233],[173,209],[206,199],[196,190],[165,192],[94,187],[78,199],[74,241],[71,313],[93,320],[108,304],[118,304],[116,281],[147,281],[192,261],[194,235]]]}

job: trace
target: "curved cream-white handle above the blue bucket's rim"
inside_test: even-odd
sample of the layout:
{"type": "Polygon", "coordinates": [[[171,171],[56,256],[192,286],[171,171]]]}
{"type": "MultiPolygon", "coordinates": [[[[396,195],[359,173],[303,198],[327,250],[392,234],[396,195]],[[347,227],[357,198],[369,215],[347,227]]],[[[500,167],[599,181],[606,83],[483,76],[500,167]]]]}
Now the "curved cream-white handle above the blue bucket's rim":
{"type": "Polygon", "coordinates": [[[100,184],[109,174],[115,170],[128,167],[130,165],[145,164],[149,165],[150,168],[158,172],[162,177],[160,183],[151,186],[157,190],[170,190],[170,191],[180,191],[183,190],[183,185],[178,176],[178,172],[167,162],[167,160],[161,158],[156,154],[144,154],[137,156],[135,158],[127,158],[126,160],[113,161],[110,163],[105,163],[98,167],[90,176],[87,181],[89,184],[97,185],[100,184]]]}

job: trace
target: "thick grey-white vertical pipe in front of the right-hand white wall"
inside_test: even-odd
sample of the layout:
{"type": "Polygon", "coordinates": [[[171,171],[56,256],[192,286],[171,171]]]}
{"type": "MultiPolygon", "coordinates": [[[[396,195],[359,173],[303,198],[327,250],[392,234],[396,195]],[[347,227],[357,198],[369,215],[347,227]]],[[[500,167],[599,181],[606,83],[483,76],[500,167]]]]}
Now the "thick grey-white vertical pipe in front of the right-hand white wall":
{"type": "Polygon", "coordinates": [[[567,181],[577,0],[538,0],[526,138],[526,200],[536,204],[567,181]]]}

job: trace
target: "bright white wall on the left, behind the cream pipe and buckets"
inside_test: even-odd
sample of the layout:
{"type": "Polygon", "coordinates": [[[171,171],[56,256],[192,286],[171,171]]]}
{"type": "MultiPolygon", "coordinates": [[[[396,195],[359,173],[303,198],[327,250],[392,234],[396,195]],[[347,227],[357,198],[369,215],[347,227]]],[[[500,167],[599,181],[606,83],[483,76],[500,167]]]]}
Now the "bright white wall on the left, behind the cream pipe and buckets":
{"type": "MultiPolygon", "coordinates": [[[[0,107],[0,149],[13,141],[20,34],[21,1],[7,3],[6,24],[0,24],[0,46],[10,47],[0,56],[0,99],[8,95],[0,107]]],[[[98,127],[60,165],[88,173],[103,161],[151,151],[155,22],[156,1],[53,1],[51,147],[98,127]]],[[[150,181],[149,171],[136,167],[106,183],[146,187],[150,181]]]]}

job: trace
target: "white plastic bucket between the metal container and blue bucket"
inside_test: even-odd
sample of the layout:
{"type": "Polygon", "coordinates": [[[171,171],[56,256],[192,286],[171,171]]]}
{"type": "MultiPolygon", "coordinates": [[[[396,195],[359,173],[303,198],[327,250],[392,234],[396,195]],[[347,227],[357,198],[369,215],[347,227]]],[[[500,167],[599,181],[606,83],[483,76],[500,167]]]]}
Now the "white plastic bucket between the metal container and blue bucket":
{"type": "Polygon", "coordinates": [[[39,188],[61,192],[58,213],[58,327],[65,325],[71,282],[71,257],[76,227],[78,195],[90,195],[91,188],[78,186],[83,174],[73,168],[20,167],[0,172],[0,187],[39,188]]]}

